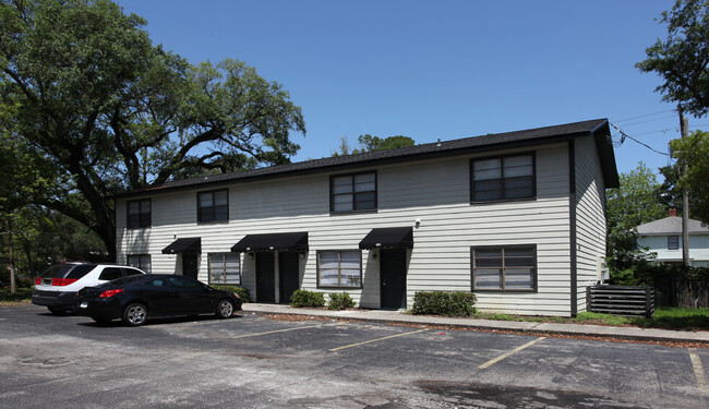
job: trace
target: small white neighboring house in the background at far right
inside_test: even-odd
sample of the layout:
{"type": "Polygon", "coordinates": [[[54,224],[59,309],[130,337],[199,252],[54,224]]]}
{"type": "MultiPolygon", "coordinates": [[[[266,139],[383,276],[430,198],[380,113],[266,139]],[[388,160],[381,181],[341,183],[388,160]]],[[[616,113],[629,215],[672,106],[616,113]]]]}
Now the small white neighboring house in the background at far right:
{"type": "MultiPolygon", "coordinates": [[[[638,248],[658,255],[658,263],[682,263],[682,217],[671,208],[669,217],[637,227],[638,248]]],[[[709,227],[689,219],[689,264],[709,266],[709,227]]]]}

